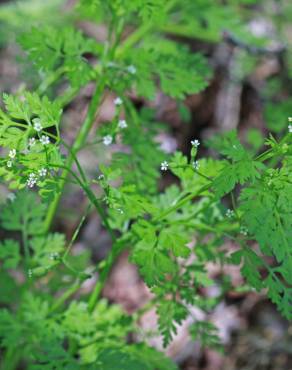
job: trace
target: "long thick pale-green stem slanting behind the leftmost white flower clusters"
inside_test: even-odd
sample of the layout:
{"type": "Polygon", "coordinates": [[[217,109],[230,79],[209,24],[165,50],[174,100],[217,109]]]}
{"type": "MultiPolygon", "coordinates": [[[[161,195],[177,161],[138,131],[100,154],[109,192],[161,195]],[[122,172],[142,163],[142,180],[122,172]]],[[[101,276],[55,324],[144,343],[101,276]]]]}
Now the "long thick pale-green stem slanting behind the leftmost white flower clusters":
{"type": "MultiPolygon", "coordinates": [[[[67,161],[66,161],[66,164],[65,164],[65,166],[68,167],[68,169],[69,168],[71,169],[72,164],[74,162],[74,155],[76,155],[76,153],[80,150],[80,148],[83,146],[83,144],[85,143],[85,141],[87,139],[89,131],[90,131],[90,129],[91,129],[91,127],[92,127],[92,125],[95,121],[97,111],[98,111],[98,108],[100,106],[100,102],[101,102],[101,99],[102,99],[104,88],[105,88],[105,78],[101,78],[97,87],[96,87],[96,89],[95,89],[94,95],[91,99],[85,121],[84,121],[83,125],[81,126],[81,128],[80,128],[80,130],[79,130],[79,132],[76,136],[75,142],[72,146],[72,151],[69,152],[69,154],[68,154],[67,161]]],[[[60,184],[59,184],[60,185],[60,191],[56,195],[55,199],[50,204],[50,207],[48,209],[47,217],[46,217],[46,220],[45,220],[45,230],[46,231],[49,231],[49,229],[51,227],[51,224],[53,222],[56,210],[58,208],[58,205],[59,205],[64,187],[65,187],[65,184],[66,184],[66,179],[69,175],[69,170],[68,169],[63,170],[62,179],[61,179],[60,184]]]]}

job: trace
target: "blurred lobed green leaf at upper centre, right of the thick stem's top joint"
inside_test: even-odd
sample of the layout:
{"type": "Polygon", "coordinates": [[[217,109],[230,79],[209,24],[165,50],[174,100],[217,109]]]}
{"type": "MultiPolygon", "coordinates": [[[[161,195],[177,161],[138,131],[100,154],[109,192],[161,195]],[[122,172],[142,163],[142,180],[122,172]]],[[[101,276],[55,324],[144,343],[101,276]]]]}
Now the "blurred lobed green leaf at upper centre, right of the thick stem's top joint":
{"type": "Polygon", "coordinates": [[[128,50],[126,65],[134,65],[133,82],[138,95],[153,99],[158,79],[161,90],[176,99],[197,93],[208,84],[210,69],[203,56],[165,40],[149,40],[143,48],[128,50]]]}

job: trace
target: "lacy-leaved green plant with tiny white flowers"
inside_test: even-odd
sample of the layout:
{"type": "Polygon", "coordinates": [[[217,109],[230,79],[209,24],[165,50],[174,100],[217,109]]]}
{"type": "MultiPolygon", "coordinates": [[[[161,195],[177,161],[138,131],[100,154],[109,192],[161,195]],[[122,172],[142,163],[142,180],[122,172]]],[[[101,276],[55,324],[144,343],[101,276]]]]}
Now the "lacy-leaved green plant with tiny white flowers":
{"type": "MultiPolygon", "coordinates": [[[[196,2],[198,14],[210,8],[222,12],[215,3],[196,2]]],[[[239,3],[232,1],[226,9],[230,12],[239,3]]],[[[149,109],[138,111],[129,98],[134,89],[151,99],[159,88],[181,100],[208,85],[212,72],[204,56],[165,37],[173,25],[179,29],[180,22],[189,20],[190,7],[191,0],[81,0],[79,14],[106,23],[104,43],[72,27],[33,28],[20,36],[44,80],[36,93],[4,94],[0,111],[0,174],[15,192],[0,215],[3,229],[12,233],[0,244],[3,370],[15,369],[21,361],[28,369],[175,369],[146,343],[127,340],[137,331],[139,313],[128,317],[101,298],[111,268],[125,249],[154,293],[149,306],[156,307],[165,346],[191,315],[191,306],[208,313],[224,289],[236,288],[225,279],[217,297],[204,297],[202,289],[214,283],[208,276],[209,262],[241,264],[247,285],[265,289],[291,319],[291,126],[279,140],[270,136],[265,141],[268,149],[260,153],[246,149],[230,132],[209,142],[222,158],[198,159],[196,139],[189,158],[181,152],[166,155],[155,141],[161,130],[155,115],[149,109]],[[128,27],[133,31],[124,38],[128,27]],[[54,86],[61,82],[68,89],[51,101],[45,92],[55,93],[54,86]],[[60,125],[62,109],[89,82],[95,89],[88,112],[73,145],[68,145],[60,125]],[[110,163],[100,162],[91,178],[78,153],[88,144],[108,92],[115,96],[115,116],[96,129],[90,144],[107,150],[118,142],[128,151],[113,154],[110,163]],[[177,185],[159,192],[161,171],[171,171],[177,185]],[[88,199],[69,241],[51,232],[68,182],[82,188],[88,199]],[[96,195],[93,185],[102,195],[96,195]],[[232,209],[224,206],[225,197],[232,209]],[[112,249],[96,267],[88,268],[89,254],[75,256],[71,250],[93,209],[112,238],[112,249]],[[236,251],[225,247],[226,239],[236,244],[236,251]],[[13,274],[15,270],[20,274],[13,274]],[[82,294],[83,282],[96,273],[95,288],[82,294]]],[[[219,30],[212,35],[218,37],[219,30]]],[[[193,321],[192,337],[220,349],[216,328],[196,317],[193,321]]]]}

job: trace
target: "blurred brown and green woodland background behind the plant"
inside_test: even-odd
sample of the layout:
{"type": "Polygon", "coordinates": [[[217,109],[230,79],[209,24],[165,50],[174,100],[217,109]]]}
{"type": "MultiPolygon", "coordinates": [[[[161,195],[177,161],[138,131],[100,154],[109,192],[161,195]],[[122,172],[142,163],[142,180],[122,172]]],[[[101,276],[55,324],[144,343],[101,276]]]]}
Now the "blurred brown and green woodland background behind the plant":
{"type": "MultiPolygon", "coordinates": [[[[90,22],[90,17],[74,11],[74,5],[71,0],[0,1],[1,93],[44,88],[41,74],[17,45],[17,39],[32,26],[41,30],[46,25],[58,28],[74,24],[98,41],[105,39],[105,26],[90,22]]],[[[192,11],[196,16],[190,13],[185,27],[166,27],[165,32],[208,58],[213,70],[208,88],[189,96],[183,104],[162,93],[151,102],[134,94],[132,99],[138,107],[154,108],[157,120],[167,126],[166,133],[157,138],[166,152],[180,149],[188,154],[191,139],[208,141],[214,134],[231,129],[238,130],[241,140],[257,151],[269,132],[277,137],[287,130],[287,117],[292,115],[292,1],[194,0],[192,11]]],[[[55,89],[59,94],[64,86],[55,89]]],[[[55,90],[49,89],[48,93],[54,97],[55,90]]],[[[78,98],[65,108],[62,129],[67,142],[72,141],[82,122],[91,93],[91,85],[82,88],[78,98]]],[[[98,120],[108,121],[113,115],[113,97],[109,95],[98,120]]],[[[201,156],[214,155],[207,146],[202,147],[201,156]]],[[[88,172],[96,171],[95,149],[82,151],[80,160],[88,172]]],[[[165,176],[161,188],[171,181],[172,178],[165,176]]],[[[0,186],[3,201],[8,191],[4,185],[0,186]]],[[[85,207],[82,192],[69,186],[62,199],[55,229],[71,236],[79,222],[78,214],[72,210],[82,207],[85,207]]],[[[94,262],[97,262],[106,256],[109,248],[110,239],[102,230],[98,216],[90,214],[75,246],[76,253],[84,255],[84,260],[92,253],[94,262]],[[96,248],[97,240],[102,248],[96,248]]],[[[216,281],[220,270],[212,269],[212,266],[210,270],[216,281]]],[[[230,268],[225,273],[232,281],[242,283],[237,268],[230,268]]],[[[90,281],[84,289],[90,290],[93,284],[94,281],[90,281]]],[[[205,294],[215,295],[216,289],[212,286],[205,294]]],[[[114,267],[104,296],[121,304],[128,313],[135,312],[151,298],[126,254],[114,267]]],[[[191,342],[186,322],[166,350],[181,369],[292,369],[292,327],[258,293],[228,293],[209,319],[219,328],[225,354],[191,342]]],[[[154,330],[154,311],[142,317],[141,326],[154,330]]],[[[149,341],[162,348],[159,339],[149,341]]]]}

